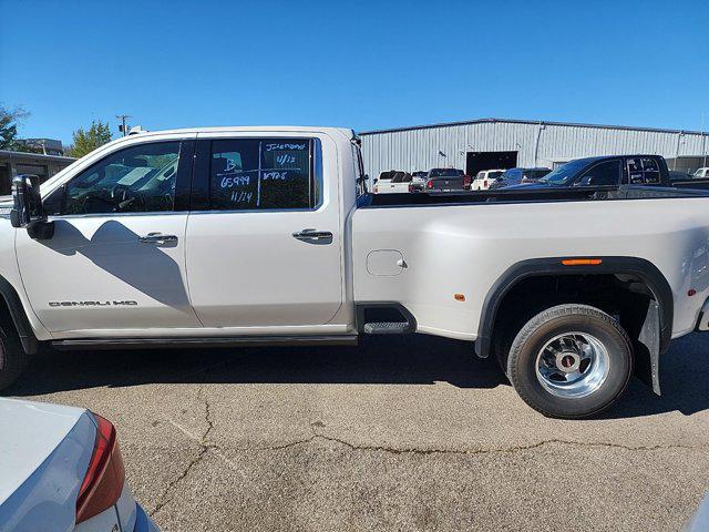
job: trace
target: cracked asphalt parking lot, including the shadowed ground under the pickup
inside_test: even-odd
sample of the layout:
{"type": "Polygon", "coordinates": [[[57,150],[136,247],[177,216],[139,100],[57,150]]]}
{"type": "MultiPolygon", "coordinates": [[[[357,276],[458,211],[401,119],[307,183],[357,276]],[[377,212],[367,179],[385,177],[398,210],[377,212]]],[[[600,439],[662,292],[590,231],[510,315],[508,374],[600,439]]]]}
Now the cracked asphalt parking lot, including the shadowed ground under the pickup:
{"type": "Polygon", "coordinates": [[[469,345],[58,352],[10,395],[111,419],[164,531],[678,530],[709,488],[709,335],[600,419],[545,419],[469,345]]]}

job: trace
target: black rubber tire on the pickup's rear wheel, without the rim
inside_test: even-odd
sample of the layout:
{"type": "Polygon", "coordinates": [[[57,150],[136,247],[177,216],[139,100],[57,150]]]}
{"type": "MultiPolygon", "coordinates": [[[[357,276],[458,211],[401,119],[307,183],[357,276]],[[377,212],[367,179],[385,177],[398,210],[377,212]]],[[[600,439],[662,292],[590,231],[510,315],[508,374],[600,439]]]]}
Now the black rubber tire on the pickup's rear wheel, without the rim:
{"type": "Polygon", "coordinates": [[[544,416],[585,418],[608,408],[627,387],[633,374],[631,346],[620,324],[603,310],[588,305],[558,305],[537,314],[522,327],[510,348],[506,374],[524,402],[544,416]],[[589,387],[592,391],[584,391],[587,395],[583,397],[552,392],[548,383],[545,387],[544,379],[537,377],[540,351],[554,338],[572,331],[589,335],[607,354],[605,377],[599,378],[597,387],[589,387]]]}

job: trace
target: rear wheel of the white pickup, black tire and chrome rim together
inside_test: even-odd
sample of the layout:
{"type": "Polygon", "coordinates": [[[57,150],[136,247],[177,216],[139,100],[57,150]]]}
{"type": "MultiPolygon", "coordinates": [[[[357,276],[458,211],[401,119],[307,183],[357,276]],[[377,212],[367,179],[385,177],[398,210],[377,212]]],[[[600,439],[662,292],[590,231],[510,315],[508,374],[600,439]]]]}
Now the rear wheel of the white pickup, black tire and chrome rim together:
{"type": "Polygon", "coordinates": [[[544,416],[593,416],[625,390],[633,372],[631,345],[606,313],[558,305],[522,327],[510,349],[507,376],[520,397],[544,416]]]}

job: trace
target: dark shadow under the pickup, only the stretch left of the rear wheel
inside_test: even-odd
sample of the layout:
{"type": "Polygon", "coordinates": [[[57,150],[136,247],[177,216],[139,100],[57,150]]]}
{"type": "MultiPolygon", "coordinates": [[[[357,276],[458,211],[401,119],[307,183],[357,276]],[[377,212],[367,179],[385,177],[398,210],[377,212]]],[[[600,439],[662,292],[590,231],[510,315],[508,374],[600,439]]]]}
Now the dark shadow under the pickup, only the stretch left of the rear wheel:
{"type": "Polygon", "coordinates": [[[8,395],[144,383],[381,383],[461,388],[506,383],[464,341],[380,336],[358,347],[253,347],[56,351],[37,356],[8,395]]]}

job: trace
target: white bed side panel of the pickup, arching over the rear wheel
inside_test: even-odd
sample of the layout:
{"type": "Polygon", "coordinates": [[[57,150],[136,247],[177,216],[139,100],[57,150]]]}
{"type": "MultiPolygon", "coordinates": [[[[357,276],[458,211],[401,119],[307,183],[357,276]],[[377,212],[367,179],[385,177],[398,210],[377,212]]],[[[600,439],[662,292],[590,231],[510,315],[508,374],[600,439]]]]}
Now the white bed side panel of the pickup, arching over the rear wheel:
{"type": "Polygon", "coordinates": [[[474,340],[495,282],[531,258],[650,262],[672,291],[672,337],[693,329],[709,296],[708,196],[374,206],[352,228],[356,301],[400,303],[421,332],[474,340]]]}

